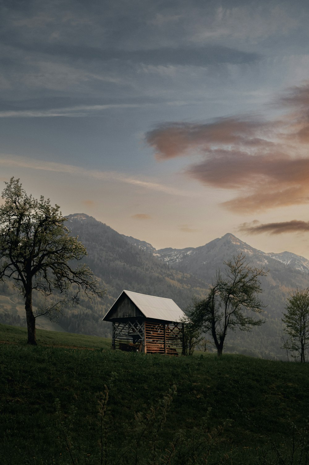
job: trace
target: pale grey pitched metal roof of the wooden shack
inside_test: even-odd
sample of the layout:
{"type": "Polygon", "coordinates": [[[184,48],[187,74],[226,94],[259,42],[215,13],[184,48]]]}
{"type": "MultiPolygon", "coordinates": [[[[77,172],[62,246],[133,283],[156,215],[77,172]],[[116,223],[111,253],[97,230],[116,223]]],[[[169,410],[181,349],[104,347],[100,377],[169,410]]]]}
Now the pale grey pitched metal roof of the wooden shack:
{"type": "MultiPolygon", "coordinates": [[[[132,300],[146,318],[179,322],[185,316],[181,308],[179,308],[172,299],[139,294],[138,292],[131,291],[123,291],[121,292],[121,295],[123,293],[127,294],[128,298],[132,300]]],[[[118,299],[119,298],[120,296],[118,299]]],[[[110,308],[110,310],[114,307],[114,305],[110,308]]],[[[110,310],[107,312],[103,320],[106,319],[110,310]]]]}

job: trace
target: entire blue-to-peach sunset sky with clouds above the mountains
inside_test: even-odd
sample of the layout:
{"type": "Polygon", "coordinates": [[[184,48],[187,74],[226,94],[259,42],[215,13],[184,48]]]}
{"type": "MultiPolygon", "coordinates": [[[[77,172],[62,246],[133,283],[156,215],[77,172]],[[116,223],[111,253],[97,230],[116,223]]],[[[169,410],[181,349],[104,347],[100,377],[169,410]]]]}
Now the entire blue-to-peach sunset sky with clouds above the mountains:
{"type": "Polygon", "coordinates": [[[0,186],[309,258],[309,3],[2,0],[0,186]]]}

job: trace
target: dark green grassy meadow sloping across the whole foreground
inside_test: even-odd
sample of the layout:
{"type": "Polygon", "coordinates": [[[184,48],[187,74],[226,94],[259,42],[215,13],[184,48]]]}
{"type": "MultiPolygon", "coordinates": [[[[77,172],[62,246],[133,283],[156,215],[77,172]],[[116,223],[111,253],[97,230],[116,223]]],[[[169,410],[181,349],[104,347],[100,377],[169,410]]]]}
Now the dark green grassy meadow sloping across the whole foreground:
{"type": "Polygon", "coordinates": [[[1,465],[307,463],[305,364],[125,353],[50,331],[26,340],[0,325],[1,465]]]}

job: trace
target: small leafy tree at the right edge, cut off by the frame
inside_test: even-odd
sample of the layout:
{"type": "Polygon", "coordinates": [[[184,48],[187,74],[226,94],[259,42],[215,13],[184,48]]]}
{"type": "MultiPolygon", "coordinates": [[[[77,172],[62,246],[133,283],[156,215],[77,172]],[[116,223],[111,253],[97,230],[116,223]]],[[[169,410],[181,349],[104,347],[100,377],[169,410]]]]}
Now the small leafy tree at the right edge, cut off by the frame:
{"type": "Polygon", "coordinates": [[[298,353],[301,362],[305,362],[309,347],[309,287],[292,292],[285,309],[282,321],[289,339],[282,347],[298,353]]]}

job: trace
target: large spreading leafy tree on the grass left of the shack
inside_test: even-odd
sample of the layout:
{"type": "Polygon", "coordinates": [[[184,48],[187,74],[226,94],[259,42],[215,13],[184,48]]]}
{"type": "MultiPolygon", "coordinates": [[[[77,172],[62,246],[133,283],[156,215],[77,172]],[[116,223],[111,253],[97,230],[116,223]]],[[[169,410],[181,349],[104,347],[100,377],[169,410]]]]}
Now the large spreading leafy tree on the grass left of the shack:
{"type": "MultiPolygon", "coordinates": [[[[25,299],[28,343],[36,345],[35,315],[32,294],[36,289],[45,296],[57,289],[60,293],[75,285],[72,297],[77,301],[83,289],[88,298],[105,291],[86,265],[72,265],[87,255],[76,237],[69,235],[58,205],[51,206],[43,196],[34,199],[22,189],[19,179],[5,182],[0,206],[0,280],[13,279],[25,299]]],[[[62,303],[67,301],[67,296],[62,303]]],[[[40,314],[54,310],[43,309],[40,314]]],[[[38,316],[38,315],[37,315],[38,316]]]]}

